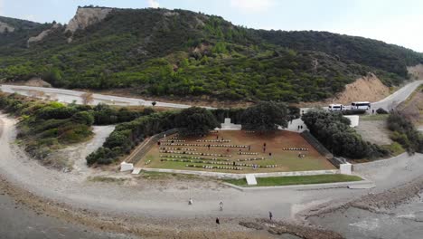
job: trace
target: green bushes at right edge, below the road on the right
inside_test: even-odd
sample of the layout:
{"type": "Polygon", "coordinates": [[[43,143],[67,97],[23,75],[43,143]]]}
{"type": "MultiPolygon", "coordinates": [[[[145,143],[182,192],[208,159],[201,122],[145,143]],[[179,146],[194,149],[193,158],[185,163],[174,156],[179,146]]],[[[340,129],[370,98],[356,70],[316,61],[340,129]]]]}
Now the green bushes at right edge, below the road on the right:
{"type": "Polygon", "coordinates": [[[391,111],[388,128],[393,132],[390,139],[400,143],[409,153],[423,153],[423,135],[418,132],[411,120],[400,111],[391,111]]]}

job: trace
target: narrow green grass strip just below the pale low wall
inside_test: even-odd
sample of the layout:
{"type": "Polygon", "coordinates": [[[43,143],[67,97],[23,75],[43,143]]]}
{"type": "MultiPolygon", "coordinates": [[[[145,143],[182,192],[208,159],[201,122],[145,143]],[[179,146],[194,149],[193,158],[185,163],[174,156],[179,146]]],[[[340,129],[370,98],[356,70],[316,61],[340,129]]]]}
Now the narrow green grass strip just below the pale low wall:
{"type": "MultiPolygon", "coordinates": [[[[292,176],[292,177],[257,177],[257,186],[287,186],[307,184],[327,184],[338,182],[361,181],[362,177],[353,175],[315,175],[315,176],[292,176]]],[[[227,183],[236,186],[248,186],[245,178],[225,179],[227,183]]]]}

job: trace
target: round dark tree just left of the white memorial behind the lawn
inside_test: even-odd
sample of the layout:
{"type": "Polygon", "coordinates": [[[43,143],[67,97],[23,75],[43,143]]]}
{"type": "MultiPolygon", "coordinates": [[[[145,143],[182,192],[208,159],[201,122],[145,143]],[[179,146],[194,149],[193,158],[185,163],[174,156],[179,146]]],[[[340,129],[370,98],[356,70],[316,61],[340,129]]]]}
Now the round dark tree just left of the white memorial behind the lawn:
{"type": "Polygon", "coordinates": [[[191,107],[176,116],[175,125],[182,135],[202,135],[218,127],[219,123],[210,110],[191,107]]]}

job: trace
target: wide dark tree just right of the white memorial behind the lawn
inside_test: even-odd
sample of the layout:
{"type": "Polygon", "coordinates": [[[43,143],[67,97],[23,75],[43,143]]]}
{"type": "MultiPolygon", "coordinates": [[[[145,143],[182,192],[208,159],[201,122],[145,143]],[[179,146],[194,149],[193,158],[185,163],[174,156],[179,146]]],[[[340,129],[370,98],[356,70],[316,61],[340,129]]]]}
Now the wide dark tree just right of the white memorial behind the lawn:
{"type": "Polygon", "coordinates": [[[249,107],[242,114],[242,129],[258,131],[276,130],[278,126],[287,128],[289,121],[287,106],[274,101],[262,101],[249,107]]]}

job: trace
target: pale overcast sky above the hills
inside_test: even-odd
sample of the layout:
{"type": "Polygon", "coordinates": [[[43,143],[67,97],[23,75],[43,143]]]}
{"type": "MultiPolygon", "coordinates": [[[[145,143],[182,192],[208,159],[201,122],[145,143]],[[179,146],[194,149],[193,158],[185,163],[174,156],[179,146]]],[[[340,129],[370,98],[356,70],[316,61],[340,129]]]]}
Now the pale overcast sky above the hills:
{"type": "Polygon", "coordinates": [[[252,28],[360,35],[423,53],[423,0],[0,0],[0,15],[68,23],[78,5],[181,8],[252,28]]]}

